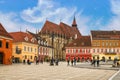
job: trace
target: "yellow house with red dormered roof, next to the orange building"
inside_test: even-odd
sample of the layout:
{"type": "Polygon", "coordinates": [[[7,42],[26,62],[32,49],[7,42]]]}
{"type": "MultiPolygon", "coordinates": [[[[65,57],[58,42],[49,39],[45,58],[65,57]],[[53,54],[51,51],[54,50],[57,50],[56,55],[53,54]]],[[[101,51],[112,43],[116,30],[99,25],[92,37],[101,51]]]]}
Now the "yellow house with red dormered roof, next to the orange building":
{"type": "Polygon", "coordinates": [[[13,60],[15,63],[23,60],[34,61],[34,57],[38,55],[38,44],[36,38],[26,32],[12,32],[13,37],[13,60]]]}

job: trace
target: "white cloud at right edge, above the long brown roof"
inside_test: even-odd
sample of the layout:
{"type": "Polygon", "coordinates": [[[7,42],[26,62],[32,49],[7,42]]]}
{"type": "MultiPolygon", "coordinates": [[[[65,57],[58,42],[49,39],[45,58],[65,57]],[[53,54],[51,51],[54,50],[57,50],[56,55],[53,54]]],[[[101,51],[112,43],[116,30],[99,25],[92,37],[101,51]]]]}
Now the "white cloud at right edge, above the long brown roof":
{"type": "Polygon", "coordinates": [[[111,11],[114,16],[110,19],[107,28],[110,30],[120,30],[120,0],[111,0],[111,11]]]}

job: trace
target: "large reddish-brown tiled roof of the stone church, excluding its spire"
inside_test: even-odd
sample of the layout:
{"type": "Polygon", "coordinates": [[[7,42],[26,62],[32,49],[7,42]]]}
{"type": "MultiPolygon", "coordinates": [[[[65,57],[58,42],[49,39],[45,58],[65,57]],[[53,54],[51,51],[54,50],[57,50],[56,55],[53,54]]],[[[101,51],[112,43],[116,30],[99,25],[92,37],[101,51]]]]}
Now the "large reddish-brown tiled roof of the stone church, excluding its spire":
{"type": "Polygon", "coordinates": [[[47,20],[43,28],[41,29],[41,33],[48,33],[48,32],[49,33],[54,32],[55,34],[66,35],[66,37],[68,38],[75,36],[75,34],[81,36],[77,27],[71,27],[63,22],[60,22],[60,24],[57,25],[47,20]]]}

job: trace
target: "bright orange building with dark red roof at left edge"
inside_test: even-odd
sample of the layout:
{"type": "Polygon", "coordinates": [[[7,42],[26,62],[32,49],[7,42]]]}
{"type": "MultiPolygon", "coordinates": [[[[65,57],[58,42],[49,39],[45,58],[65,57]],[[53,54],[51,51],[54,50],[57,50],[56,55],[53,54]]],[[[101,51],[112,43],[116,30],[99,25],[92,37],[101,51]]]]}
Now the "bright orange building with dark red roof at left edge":
{"type": "Polygon", "coordinates": [[[0,24],[0,64],[11,64],[12,37],[0,24]]]}

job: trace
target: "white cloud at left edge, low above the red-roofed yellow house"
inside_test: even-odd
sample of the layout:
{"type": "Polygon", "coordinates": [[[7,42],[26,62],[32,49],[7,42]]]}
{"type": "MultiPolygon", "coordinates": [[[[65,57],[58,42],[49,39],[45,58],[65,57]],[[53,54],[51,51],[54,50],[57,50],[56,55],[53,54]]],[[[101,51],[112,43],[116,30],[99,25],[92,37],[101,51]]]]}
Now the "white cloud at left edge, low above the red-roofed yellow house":
{"type": "Polygon", "coordinates": [[[35,28],[31,25],[19,22],[17,14],[15,13],[2,13],[0,12],[0,23],[8,32],[25,31],[28,27],[28,30],[35,32],[35,28]]]}

